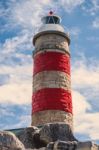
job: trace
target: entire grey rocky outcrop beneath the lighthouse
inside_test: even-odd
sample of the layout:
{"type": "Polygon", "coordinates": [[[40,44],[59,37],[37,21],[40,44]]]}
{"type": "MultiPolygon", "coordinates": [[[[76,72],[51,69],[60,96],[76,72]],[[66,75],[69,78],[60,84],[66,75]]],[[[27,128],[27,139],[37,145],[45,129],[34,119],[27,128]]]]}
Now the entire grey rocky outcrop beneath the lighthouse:
{"type": "Polygon", "coordinates": [[[99,150],[98,145],[90,141],[79,142],[65,123],[28,127],[16,136],[0,132],[0,150],[99,150]]]}

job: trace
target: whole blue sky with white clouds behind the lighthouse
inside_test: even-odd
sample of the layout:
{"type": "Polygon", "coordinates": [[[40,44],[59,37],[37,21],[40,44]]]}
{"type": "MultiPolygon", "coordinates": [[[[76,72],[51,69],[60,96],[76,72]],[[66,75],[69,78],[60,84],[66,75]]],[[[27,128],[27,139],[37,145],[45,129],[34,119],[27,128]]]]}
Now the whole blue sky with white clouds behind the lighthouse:
{"type": "Polygon", "coordinates": [[[0,129],[30,126],[32,38],[49,10],[71,37],[75,136],[99,143],[99,0],[0,0],[0,129]]]}

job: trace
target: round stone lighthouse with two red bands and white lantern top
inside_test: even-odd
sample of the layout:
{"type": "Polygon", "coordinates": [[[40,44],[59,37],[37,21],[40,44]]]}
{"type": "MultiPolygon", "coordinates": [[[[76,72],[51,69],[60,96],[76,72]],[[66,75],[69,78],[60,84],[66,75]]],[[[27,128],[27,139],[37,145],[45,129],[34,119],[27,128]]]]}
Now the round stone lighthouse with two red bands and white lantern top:
{"type": "Polygon", "coordinates": [[[49,12],[33,38],[32,125],[64,122],[72,128],[70,38],[49,12]]]}

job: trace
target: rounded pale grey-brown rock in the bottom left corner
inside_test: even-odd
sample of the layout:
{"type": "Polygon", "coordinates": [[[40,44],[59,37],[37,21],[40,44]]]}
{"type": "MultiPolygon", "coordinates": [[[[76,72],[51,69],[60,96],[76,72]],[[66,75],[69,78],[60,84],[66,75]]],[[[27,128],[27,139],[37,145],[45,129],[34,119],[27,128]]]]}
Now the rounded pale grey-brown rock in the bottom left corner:
{"type": "Polygon", "coordinates": [[[25,148],[13,133],[0,131],[0,150],[25,150],[25,148]]]}

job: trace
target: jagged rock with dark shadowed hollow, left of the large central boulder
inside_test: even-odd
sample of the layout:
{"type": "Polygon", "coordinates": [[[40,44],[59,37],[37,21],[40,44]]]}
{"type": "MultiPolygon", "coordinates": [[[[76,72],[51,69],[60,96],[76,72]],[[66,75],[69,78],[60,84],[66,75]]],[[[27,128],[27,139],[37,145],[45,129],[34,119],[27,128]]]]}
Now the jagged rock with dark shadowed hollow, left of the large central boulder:
{"type": "Polygon", "coordinates": [[[25,148],[41,148],[45,147],[46,144],[40,140],[39,129],[35,126],[25,128],[21,131],[17,137],[24,144],[25,148]]]}

